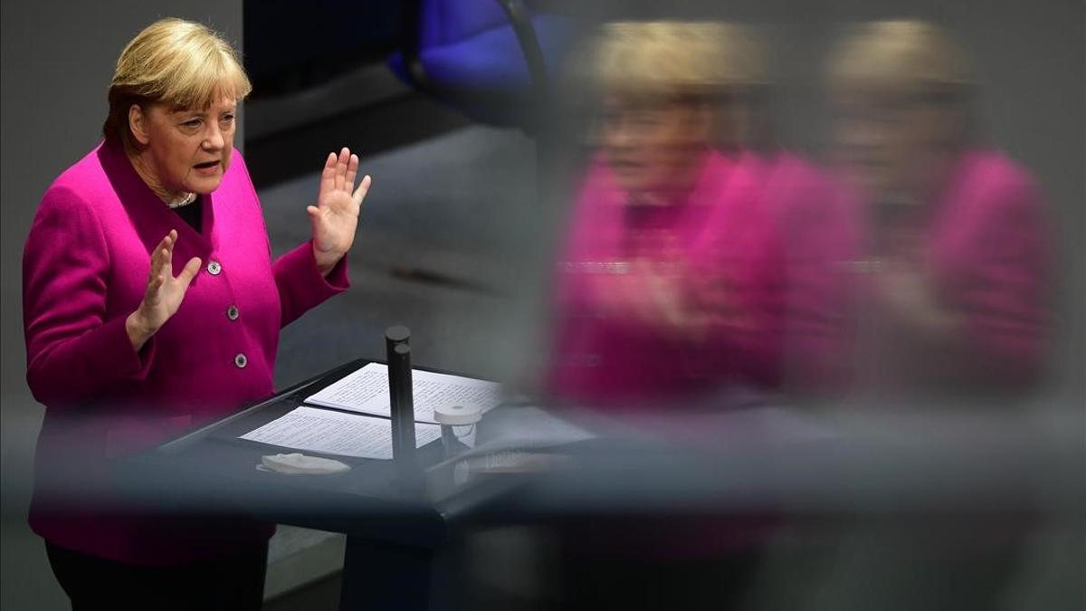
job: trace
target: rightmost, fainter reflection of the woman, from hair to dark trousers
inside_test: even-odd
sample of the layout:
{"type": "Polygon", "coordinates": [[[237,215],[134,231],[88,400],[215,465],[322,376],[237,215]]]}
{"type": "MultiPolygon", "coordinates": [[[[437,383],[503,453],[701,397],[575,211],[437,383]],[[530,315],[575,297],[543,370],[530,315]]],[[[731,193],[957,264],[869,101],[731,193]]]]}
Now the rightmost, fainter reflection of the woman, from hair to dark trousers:
{"type": "MultiPolygon", "coordinates": [[[[1041,370],[1043,211],[1028,174],[972,138],[972,80],[957,45],[922,22],[862,25],[830,62],[835,162],[855,196],[831,226],[853,240],[841,266],[855,280],[853,362],[866,409],[945,410],[959,397],[1028,388],[1041,370]]],[[[863,584],[849,587],[847,606],[1002,607],[1027,520],[940,515],[923,514],[923,528],[858,523],[834,562],[863,584]]]]}

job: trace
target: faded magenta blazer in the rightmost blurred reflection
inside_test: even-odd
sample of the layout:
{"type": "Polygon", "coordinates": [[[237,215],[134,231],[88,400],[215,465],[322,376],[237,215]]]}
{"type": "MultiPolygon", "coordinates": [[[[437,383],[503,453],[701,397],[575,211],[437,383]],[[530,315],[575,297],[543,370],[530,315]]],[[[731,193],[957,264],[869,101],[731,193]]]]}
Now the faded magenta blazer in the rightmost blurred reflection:
{"type": "Polygon", "coordinates": [[[835,189],[782,215],[798,249],[790,284],[806,296],[792,310],[790,346],[810,386],[843,389],[847,379],[860,392],[900,395],[1005,391],[1038,379],[1051,322],[1051,245],[1025,170],[996,151],[965,150],[918,208],[915,255],[959,320],[955,337],[935,342],[875,297],[883,245],[871,204],[843,180],[835,189]]]}

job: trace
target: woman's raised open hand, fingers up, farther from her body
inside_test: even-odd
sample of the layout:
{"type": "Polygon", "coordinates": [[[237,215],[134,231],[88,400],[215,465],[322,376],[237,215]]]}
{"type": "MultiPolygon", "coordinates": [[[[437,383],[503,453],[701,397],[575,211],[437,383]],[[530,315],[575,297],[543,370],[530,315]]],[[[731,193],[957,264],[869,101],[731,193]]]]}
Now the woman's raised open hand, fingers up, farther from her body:
{"type": "Polygon", "coordinates": [[[357,174],[358,155],[351,154],[350,149],[344,147],[339,155],[328,153],[320,173],[317,205],[305,209],[313,226],[313,255],[321,275],[327,276],[354,244],[358,211],[370,184],[369,176],[363,176],[355,189],[357,174]]]}

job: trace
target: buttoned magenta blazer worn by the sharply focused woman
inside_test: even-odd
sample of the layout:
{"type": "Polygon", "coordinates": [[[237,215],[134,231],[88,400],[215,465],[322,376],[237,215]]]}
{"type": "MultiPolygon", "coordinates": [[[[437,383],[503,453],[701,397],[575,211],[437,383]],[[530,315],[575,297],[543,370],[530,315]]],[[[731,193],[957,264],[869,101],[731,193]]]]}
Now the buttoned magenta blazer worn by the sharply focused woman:
{"type": "MultiPolygon", "coordinates": [[[[299,222],[302,222],[299,209],[299,222]]],[[[126,510],[109,460],[149,448],[273,394],[279,329],[345,290],[312,244],[272,260],[241,155],[203,196],[202,233],[169,210],[119,147],[100,145],[46,191],[23,253],[27,383],[47,408],[30,525],[54,545],[137,564],[174,564],[261,545],[269,525],[126,510]],[[174,273],[203,269],[176,315],[139,351],[125,319],[150,252],[177,229],[174,273]]]]}

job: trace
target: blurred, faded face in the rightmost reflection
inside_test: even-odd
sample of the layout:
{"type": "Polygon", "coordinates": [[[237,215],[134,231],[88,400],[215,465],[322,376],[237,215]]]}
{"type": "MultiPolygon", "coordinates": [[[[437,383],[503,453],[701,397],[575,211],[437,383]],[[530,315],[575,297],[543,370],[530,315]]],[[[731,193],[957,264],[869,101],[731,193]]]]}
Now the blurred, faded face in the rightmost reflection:
{"type": "Polygon", "coordinates": [[[960,141],[960,113],[931,97],[853,88],[835,100],[842,161],[872,197],[915,194],[930,186],[960,141]]]}

